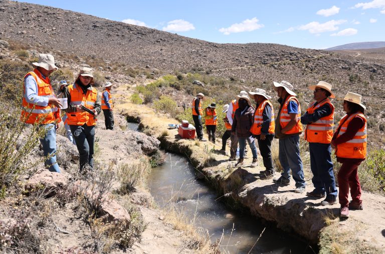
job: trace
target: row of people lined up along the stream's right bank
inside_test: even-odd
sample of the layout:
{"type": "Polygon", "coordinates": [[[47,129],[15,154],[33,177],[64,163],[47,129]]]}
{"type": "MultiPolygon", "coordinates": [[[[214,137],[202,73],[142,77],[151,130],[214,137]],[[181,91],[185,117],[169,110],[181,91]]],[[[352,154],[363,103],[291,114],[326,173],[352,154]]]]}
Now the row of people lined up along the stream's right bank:
{"type": "MultiPolygon", "coordinates": [[[[366,157],[366,118],[365,106],[361,103],[361,95],[347,92],[343,100],[343,110],[346,112],[334,130],[334,105],[331,98],[335,98],[331,91],[331,84],[319,81],[308,88],[313,90],[314,101],[310,103],[306,112],[301,115],[301,106],[293,91],[293,85],[287,81],[273,82],[280,104],[275,115],[271,96],[260,88],[255,91],[241,91],[236,99],[224,106],[226,112],[226,132],[222,137],[222,151],[226,151],[227,140],[231,139],[230,159],[236,160],[239,144],[239,159],[235,166],[244,164],[246,141],[252,151],[253,161],[250,167],[257,166],[257,148],[255,140],[263,158],[264,171],[260,172],[261,179],[272,179],[275,167],[272,160],[271,146],[274,138],[278,139],[279,162],[282,167],[281,176],[273,182],[280,185],[289,185],[290,178],[295,181],[295,193],[305,192],[306,182],[300,156],[299,139],[304,132],[304,139],[309,143],[310,168],[313,173],[314,189],[306,192],[307,196],[325,198],[321,205],[332,205],[338,200],[340,216],[348,217],[349,209],[362,210],[361,187],[357,169],[366,157]],[[254,107],[251,99],[254,99],[254,107]],[[303,124],[306,124],[304,130],[303,124]],[[342,163],[337,178],[339,193],[334,179],[331,149],[335,150],[337,162],[342,163]],[[291,175],[290,175],[291,171],[291,175]],[[348,193],[352,200],[348,201],[348,193]]],[[[193,118],[200,141],[203,138],[201,115],[203,114],[199,93],[193,99],[193,118]]],[[[215,103],[206,110],[205,119],[213,123],[215,103]],[[212,110],[214,107],[214,111],[212,110]]],[[[216,120],[216,118],[215,118],[216,120]]],[[[214,121],[215,122],[215,121],[214,121]]],[[[215,143],[215,128],[207,128],[209,139],[215,143]],[[209,131],[210,130],[210,131],[209,131]]]]}

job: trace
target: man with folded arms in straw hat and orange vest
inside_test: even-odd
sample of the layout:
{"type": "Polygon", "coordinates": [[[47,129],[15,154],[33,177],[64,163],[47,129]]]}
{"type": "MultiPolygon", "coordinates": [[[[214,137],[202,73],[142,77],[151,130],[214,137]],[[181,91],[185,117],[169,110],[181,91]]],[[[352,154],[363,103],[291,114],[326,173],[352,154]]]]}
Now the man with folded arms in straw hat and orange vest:
{"type": "Polygon", "coordinates": [[[309,142],[310,168],[313,173],[311,181],[314,190],[307,192],[310,197],[325,197],[321,205],[337,203],[337,187],[335,186],[333,163],[331,161],[330,142],[333,137],[334,106],[330,98],[335,98],[331,91],[331,84],[319,81],[317,85],[310,85],[314,99],[301,116],[301,123],[307,124],[305,140],[309,142]]]}

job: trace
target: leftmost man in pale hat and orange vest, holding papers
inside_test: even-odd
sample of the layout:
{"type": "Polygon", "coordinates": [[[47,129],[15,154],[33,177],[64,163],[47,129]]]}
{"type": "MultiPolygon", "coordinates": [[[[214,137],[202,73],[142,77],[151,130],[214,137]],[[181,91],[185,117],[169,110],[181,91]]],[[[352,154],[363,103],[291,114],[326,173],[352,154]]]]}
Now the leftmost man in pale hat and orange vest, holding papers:
{"type": "Polygon", "coordinates": [[[40,139],[44,156],[48,159],[45,166],[51,172],[60,173],[56,162],[56,130],[60,119],[59,108],[62,104],[56,98],[49,76],[58,69],[52,55],[40,54],[39,61],[32,63],[36,68],[24,77],[24,96],[21,120],[26,123],[39,123],[47,130],[40,139]]]}

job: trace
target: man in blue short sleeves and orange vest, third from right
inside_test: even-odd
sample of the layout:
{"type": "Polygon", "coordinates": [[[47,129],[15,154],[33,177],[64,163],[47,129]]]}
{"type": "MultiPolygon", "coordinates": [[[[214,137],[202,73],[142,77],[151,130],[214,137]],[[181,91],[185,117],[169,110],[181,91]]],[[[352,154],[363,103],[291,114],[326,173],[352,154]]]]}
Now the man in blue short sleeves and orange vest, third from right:
{"type": "Polygon", "coordinates": [[[273,82],[273,88],[277,92],[280,103],[274,134],[275,138],[279,139],[278,159],[283,168],[281,177],[273,182],[289,185],[291,170],[295,181],[295,193],[303,193],[306,182],[299,151],[299,135],[302,133],[301,106],[295,97],[295,92],[292,91],[293,85],[289,82],[273,82]]]}

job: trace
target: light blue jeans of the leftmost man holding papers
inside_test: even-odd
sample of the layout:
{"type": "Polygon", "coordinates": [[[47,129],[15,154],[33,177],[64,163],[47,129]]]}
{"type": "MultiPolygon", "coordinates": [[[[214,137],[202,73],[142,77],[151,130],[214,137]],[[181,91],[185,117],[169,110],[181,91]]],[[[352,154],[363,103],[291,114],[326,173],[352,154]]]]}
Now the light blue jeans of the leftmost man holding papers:
{"type": "Polygon", "coordinates": [[[40,143],[43,146],[44,156],[50,157],[44,162],[44,165],[49,167],[49,171],[60,173],[59,165],[56,162],[56,124],[42,124],[40,127],[47,130],[46,135],[40,139],[40,143]]]}

